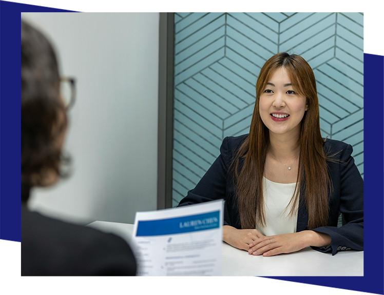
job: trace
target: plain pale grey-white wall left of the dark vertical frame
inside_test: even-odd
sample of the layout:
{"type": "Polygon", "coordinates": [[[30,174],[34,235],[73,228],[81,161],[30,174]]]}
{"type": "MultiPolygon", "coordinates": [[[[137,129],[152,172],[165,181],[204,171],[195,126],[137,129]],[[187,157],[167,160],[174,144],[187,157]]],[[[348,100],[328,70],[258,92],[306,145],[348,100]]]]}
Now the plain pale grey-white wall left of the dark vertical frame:
{"type": "Polygon", "coordinates": [[[73,174],[29,207],[87,223],[133,223],[157,207],[158,12],[22,13],[77,80],[65,150],[73,174]]]}

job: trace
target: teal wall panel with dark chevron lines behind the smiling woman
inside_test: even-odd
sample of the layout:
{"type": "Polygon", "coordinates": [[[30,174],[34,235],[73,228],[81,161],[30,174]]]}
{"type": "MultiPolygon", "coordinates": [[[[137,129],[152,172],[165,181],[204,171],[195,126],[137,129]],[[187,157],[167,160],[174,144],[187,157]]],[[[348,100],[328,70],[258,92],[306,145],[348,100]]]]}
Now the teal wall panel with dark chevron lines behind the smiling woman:
{"type": "Polygon", "coordinates": [[[359,12],[176,12],[172,206],[249,132],[257,75],[282,51],[313,68],[322,135],[351,144],[363,175],[363,46],[359,12]]]}

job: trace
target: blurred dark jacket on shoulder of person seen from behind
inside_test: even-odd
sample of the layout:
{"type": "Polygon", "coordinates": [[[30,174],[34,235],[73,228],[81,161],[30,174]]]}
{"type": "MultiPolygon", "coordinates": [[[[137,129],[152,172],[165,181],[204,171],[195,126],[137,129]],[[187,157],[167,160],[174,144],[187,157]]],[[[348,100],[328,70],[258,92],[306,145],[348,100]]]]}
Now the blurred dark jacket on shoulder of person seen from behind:
{"type": "Polygon", "coordinates": [[[135,278],[129,245],[111,233],[21,210],[22,278],[135,278]]]}

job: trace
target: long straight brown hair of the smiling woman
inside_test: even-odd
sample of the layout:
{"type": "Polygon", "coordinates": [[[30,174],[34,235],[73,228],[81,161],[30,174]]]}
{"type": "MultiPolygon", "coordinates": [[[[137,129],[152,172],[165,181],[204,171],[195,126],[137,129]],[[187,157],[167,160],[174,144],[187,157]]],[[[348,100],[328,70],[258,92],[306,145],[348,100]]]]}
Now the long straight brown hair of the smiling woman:
{"type": "Polygon", "coordinates": [[[320,133],[315,75],[304,58],[282,52],[267,60],[260,70],[249,136],[240,146],[231,165],[242,228],[255,228],[256,224],[265,226],[263,174],[270,141],[268,129],[260,117],[259,102],[266,83],[280,67],[287,70],[292,87],[299,95],[306,97],[308,105],[308,111],[301,121],[299,171],[290,213],[294,213],[300,195],[308,212],[309,229],[328,225],[329,222],[328,193],[332,190],[332,183],[326,163],[329,158],[324,154],[324,141],[320,133]]]}

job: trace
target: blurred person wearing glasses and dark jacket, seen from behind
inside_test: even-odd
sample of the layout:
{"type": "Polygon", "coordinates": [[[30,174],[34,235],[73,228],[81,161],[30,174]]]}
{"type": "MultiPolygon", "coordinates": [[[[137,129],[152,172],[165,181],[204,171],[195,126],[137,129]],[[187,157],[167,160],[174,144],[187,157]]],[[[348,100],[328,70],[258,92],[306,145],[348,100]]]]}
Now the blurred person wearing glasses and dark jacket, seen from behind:
{"type": "Polygon", "coordinates": [[[21,53],[21,278],[134,279],[136,260],[122,238],[27,208],[31,188],[60,177],[69,104],[52,46],[23,20],[21,53]]]}

